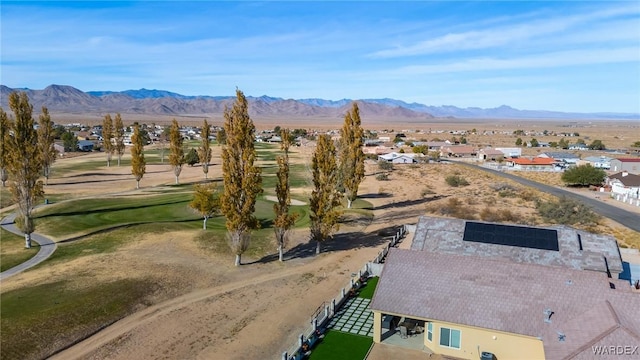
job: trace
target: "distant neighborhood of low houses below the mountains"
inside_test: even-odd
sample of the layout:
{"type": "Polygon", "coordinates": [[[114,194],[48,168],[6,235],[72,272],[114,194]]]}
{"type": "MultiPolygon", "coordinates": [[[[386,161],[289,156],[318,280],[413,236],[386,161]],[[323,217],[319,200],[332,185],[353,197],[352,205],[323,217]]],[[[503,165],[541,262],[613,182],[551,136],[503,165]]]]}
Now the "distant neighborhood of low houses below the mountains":
{"type": "MultiPolygon", "coordinates": [[[[140,124],[141,134],[147,144],[168,143],[169,127],[159,124],[140,124]]],[[[55,148],[64,156],[66,152],[100,151],[104,139],[102,126],[80,123],[57,125],[60,140],[55,148]]],[[[202,129],[198,126],[181,126],[184,140],[200,140],[202,129]]],[[[256,133],[256,142],[280,143],[280,127],[256,133]]],[[[211,126],[211,141],[224,141],[224,129],[211,126]]],[[[340,131],[294,129],[296,146],[313,146],[320,134],[329,134],[333,140],[340,138],[340,131]]],[[[131,145],[132,128],[126,127],[124,144],[131,145]]],[[[112,139],[113,141],[113,139],[112,139]]],[[[617,144],[620,145],[620,144],[617,144]]],[[[483,131],[461,130],[367,130],[362,151],[373,161],[391,164],[419,164],[442,161],[470,162],[499,171],[563,172],[577,166],[589,165],[606,171],[607,177],[598,191],[618,201],[640,206],[640,144],[608,148],[600,140],[587,144],[577,132],[533,131],[483,131]],[[480,146],[471,144],[470,134],[486,137],[515,138],[511,146],[480,146]],[[557,141],[543,142],[536,138],[555,137],[557,141]],[[522,139],[529,140],[522,140],[522,139]]]]}

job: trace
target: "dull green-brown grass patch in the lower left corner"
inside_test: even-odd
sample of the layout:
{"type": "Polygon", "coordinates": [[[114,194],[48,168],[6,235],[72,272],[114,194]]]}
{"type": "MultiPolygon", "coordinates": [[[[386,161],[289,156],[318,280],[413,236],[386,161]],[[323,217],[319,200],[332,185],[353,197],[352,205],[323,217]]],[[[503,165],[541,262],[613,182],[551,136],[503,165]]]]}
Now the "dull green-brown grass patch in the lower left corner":
{"type": "Polygon", "coordinates": [[[43,359],[132,313],[157,285],[116,280],[88,287],[72,281],[26,286],[2,294],[0,359],[43,359]]]}

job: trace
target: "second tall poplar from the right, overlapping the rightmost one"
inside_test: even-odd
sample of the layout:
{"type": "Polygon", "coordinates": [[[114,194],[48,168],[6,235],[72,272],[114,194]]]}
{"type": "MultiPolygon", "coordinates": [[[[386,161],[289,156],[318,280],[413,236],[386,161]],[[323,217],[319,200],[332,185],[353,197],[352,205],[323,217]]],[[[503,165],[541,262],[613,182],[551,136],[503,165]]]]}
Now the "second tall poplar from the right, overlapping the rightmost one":
{"type": "Polygon", "coordinates": [[[338,229],[340,192],[336,188],[338,168],[336,148],[329,135],[320,135],[311,161],[313,191],[309,199],[309,219],[311,239],[317,242],[316,254],[320,253],[320,243],[338,229]]]}

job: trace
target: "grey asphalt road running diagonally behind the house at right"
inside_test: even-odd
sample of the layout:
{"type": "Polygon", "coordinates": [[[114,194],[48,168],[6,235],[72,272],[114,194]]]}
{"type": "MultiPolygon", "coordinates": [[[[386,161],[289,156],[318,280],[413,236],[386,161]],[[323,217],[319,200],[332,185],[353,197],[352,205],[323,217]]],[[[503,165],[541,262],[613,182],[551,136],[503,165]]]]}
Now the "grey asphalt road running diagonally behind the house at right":
{"type": "Polygon", "coordinates": [[[523,185],[527,185],[527,186],[531,186],[533,188],[536,188],[538,190],[544,191],[548,194],[552,194],[555,196],[566,196],[568,198],[573,198],[576,200],[580,200],[583,203],[591,206],[591,208],[593,209],[593,211],[595,211],[596,213],[607,217],[613,221],[616,221],[626,227],[628,227],[629,229],[635,230],[640,232],[640,215],[638,215],[637,213],[633,213],[624,209],[621,209],[619,207],[613,206],[613,205],[609,205],[606,202],[596,199],[595,197],[588,197],[588,196],[583,196],[580,194],[576,194],[573,193],[571,191],[567,191],[567,190],[563,190],[561,188],[557,188],[555,186],[549,186],[549,185],[545,185],[545,184],[541,184],[539,182],[535,182],[535,181],[531,181],[528,179],[524,179],[521,178],[519,176],[515,176],[509,173],[505,173],[502,171],[496,171],[493,169],[487,169],[481,166],[477,166],[477,165],[472,165],[472,164],[467,164],[467,163],[463,163],[463,162],[455,162],[456,164],[460,164],[460,165],[464,165],[464,166],[469,166],[469,167],[473,167],[476,169],[480,169],[498,176],[502,176],[508,179],[511,179],[513,181],[519,182],[520,184],[523,185]]]}

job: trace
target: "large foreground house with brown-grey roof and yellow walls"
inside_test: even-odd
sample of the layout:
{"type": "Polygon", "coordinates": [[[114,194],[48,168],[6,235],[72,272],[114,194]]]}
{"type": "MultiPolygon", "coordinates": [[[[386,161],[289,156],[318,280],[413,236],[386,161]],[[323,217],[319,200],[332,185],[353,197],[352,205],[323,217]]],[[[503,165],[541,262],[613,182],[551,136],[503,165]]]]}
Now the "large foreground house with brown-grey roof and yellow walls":
{"type": "Polygon", "coordinates": [[[427,353],[462,359],[583,359],[611,343],[633,351],[640,294],[621,272],[610,236],[422,217],[411,249],[385,260],[374,342],[394,335],[383,326],[392,317],[423,330],[415,336],[427,353]]]}

